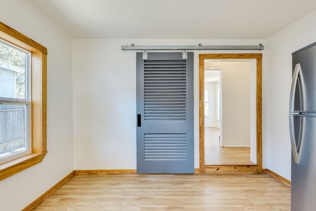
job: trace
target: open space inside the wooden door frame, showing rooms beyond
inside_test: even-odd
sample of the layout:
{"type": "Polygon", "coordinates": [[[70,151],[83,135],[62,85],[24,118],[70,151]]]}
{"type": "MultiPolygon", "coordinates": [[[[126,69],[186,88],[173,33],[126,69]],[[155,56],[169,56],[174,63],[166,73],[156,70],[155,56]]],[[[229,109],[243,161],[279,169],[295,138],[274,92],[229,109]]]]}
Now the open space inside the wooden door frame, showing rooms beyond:
{"type": "Polygon", "coordinates": [[[255,63],[255,59],[204,60],[206,165],[256,164],[252,135],[256,131],[250,127],[251,120],[255,122],[251,112],[256,102],[255,63]]]}

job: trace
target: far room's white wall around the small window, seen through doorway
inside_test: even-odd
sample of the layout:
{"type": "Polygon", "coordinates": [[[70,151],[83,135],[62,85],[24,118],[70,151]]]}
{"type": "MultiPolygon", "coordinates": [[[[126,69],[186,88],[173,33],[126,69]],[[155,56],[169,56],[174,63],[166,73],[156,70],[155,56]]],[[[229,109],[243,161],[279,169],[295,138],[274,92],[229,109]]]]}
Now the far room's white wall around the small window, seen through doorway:
{"type": "Polygon", "coordinates": [[[205,82],[204,89],[209,89],[209,117],[204,117],[204,126],[216,127],[216,82],[205,82]]]}

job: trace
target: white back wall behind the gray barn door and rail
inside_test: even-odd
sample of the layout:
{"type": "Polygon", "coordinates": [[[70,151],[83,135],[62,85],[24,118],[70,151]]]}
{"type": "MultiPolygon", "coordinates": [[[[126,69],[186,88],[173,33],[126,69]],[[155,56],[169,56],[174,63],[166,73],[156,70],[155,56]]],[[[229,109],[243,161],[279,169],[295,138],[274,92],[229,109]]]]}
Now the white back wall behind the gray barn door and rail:
{"type": "MultiPolygon", "coordinates": [[[[136,51],[121,45],[257,45],[263,40],[73,40],[74,168],[136,169],[136,51]]],[[[199,53],[194,51],[194,99],[198,102],[199,53]]],[[[194,107],[195,168],[199,166],[198,104],[194,107]]],[[[264,150],[264,153],[265,150],[264,150]]],[[[265,163],[264,163],[265,167],[265,163]]]]}

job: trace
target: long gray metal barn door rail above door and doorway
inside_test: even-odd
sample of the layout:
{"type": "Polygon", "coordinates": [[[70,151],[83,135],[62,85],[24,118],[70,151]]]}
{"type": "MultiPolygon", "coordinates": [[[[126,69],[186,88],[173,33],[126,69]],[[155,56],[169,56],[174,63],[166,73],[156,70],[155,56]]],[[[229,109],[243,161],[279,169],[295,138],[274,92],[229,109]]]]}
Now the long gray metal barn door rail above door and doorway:
{"type": "Polygon", "coordinates": [[[264,45],[122,45],[122,50],[263,50],[264,45]]]}

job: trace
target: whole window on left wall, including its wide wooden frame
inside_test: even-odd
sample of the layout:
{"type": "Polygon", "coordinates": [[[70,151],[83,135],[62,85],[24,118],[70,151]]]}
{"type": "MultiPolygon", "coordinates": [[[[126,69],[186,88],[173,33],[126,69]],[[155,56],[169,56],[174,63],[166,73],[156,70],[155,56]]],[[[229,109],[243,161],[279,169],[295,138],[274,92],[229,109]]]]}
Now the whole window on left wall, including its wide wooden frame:
{"type": "Polygon", "coordinates": [[[0,180],[47,153],[46,57],[44,46],[0,22],[0,180]]]}

